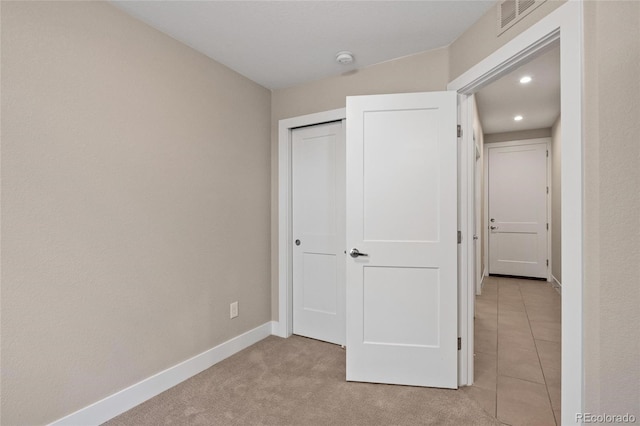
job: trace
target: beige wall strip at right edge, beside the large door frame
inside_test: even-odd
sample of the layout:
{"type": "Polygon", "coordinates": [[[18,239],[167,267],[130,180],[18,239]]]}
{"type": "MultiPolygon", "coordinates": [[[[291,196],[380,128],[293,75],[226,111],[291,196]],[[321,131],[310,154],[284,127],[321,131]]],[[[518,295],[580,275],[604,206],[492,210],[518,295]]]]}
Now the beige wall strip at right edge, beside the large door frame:
{"type": "Polygon", "coordinates": [[[584,7],[585,408],[640,418],[640,2],[584,7]]]}

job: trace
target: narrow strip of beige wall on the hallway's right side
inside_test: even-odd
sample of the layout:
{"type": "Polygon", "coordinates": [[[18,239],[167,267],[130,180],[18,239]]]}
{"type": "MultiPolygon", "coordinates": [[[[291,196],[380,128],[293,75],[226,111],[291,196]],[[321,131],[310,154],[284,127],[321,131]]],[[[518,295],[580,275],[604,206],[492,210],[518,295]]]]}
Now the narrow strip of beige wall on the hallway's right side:
{"type": "Polygon", "coordinates": [[[551,128],[551,274],[562,284],[561,116],[551,128]]]}

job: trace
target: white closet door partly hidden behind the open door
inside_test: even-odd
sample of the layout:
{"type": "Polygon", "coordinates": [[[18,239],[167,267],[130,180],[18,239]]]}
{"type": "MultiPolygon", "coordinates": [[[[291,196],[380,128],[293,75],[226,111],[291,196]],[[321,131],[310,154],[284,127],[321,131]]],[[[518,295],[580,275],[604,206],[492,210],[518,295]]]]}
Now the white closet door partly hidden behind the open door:
{"type": "Polygon", "coordinates": [[[345,343],[345,143],[341,121],[292,131],[293,332],[345,343]]]}

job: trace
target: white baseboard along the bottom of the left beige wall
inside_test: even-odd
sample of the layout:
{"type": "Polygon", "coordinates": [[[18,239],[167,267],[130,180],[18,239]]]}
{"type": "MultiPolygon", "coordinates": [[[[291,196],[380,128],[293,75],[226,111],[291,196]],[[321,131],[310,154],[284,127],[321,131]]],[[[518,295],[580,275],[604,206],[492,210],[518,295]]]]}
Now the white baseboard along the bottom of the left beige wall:
{"type": "Polygon", "coordinates": [[[271,335],[273,330],[274,321],[264,323],[193,358],[169,367],[135,385],[56,420],[51,425],[99,425],[104,423],[178,383],[195,376],[225,358],[259,342],[271,335]]]}

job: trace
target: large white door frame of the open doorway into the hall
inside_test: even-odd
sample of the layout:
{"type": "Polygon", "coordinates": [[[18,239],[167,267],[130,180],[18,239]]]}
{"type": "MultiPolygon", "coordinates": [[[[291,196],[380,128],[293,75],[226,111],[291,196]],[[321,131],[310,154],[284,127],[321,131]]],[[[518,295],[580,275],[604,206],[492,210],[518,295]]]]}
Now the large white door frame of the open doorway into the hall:
{"type": "Polygon", "coordinates": [[[523,60],[542,52],[551,43],[560,41],[561,120],[562,120],[562,424],[575,422],[575,414],[584,412],[584,355],[583,355],[583,5],[568,1],[513,40],[480,61],[447,85],[462,95],[463,140],[461,151],[466,167],[461,170],[462,194],[460,206],[463,242],[461,286],[469,298],[462,327],[462,349],[467,370],[471,368],[468,384],[473,382],[473,268],[469,266],[473,254],[472,238],[468,231],[473,225],[473,170],[475,161],[470,134],[472,115],[467,106],[468,96],[516,68],[523,60]]]}

